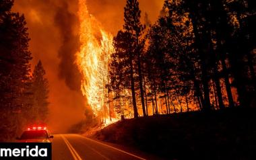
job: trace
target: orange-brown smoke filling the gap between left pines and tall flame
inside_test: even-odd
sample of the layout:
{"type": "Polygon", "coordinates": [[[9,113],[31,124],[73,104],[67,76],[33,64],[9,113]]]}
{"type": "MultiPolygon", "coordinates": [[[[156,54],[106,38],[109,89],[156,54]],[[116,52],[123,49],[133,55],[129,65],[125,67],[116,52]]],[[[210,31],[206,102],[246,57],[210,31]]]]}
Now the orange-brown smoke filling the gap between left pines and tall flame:
{"type": "Polygon", "coordinates": [[[74,54],[79,48],[76,1],[16,0],[13,11],[24,13],[31,38],[32,66],[42,61],[49,79],[49,128],[65,132],[84,116],[86,100],[79,91],[74,54]],[[59,17],[59,18],[58,18],[59,17]]]}

